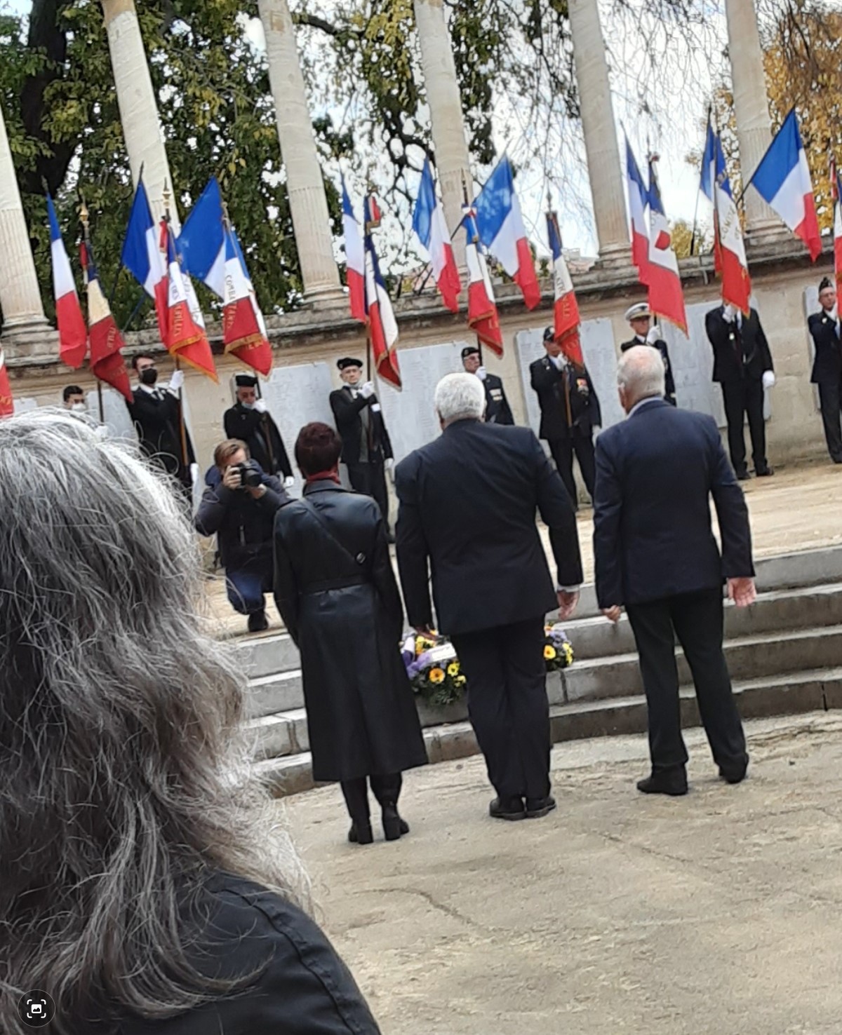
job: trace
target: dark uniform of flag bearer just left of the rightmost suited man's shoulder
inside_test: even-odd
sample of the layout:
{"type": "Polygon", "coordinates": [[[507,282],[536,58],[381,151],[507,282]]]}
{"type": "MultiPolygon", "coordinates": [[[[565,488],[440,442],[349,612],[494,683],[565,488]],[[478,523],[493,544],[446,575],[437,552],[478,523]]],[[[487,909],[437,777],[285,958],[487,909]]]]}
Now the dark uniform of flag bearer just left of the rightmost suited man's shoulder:
{"type": "Polygon", "coordinates": [[[541,407],[539,436],[550,444],[555,466],[574,507],[578,493],[573,478],[573,454],[588,495],[593,498],[593,428],[602,426],[602,412],[586,367],[567,363],[559,371],[549,356],[529,365],[533,391],[541,407]]]}

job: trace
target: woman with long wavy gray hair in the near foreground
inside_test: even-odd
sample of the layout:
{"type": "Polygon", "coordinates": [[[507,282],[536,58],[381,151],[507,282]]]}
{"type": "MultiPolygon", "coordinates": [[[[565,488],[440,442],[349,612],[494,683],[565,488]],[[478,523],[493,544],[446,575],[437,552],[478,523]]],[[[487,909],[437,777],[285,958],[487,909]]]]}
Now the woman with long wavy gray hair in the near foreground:
{"type": "Polygon", "coordinates": [[[54,1035],[375,1035],[233,746],[242,677],[163,479],[27,414],[0,512],[0,1031],[52,999],[54,1035]]]}

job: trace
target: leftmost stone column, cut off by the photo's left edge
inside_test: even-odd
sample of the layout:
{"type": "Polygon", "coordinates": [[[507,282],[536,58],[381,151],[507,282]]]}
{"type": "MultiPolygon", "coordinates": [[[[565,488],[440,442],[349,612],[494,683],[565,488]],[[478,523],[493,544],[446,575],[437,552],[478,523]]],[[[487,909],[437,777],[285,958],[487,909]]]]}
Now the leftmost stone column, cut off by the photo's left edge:
{"type": "Polygon", "coordinates": [[[3,337],[46,331],[35,261],[29,243],[21,191],[0,110],[0,309],[3,337]]]}

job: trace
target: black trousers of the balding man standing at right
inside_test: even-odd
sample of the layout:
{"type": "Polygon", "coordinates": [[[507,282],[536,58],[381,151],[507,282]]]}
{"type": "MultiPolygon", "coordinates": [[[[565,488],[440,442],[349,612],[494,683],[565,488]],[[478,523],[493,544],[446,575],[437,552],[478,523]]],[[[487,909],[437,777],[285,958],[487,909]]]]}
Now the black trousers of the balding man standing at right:
{"type": "Polygon", "coordinates": [[[722,590],[702,590],[627,607],[640,655],[649,712],[652,769],[687,763],[681,737],[675,637],[693,675],[699,714],[714,761],[735,768],[746,759],[746,736],[722,650],[722,590]]]}

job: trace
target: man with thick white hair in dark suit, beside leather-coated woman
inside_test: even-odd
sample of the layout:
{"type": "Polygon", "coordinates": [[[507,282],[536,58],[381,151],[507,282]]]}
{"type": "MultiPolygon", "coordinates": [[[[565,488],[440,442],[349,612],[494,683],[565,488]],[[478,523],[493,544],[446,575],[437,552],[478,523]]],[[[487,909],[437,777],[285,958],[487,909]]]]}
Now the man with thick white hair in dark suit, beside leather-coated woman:
{"type": "Polygon", "coordinates": [[[468,711],[497,797],[495,819],[555,808],[544,664],[548,611],[573,614],[582,582],[576,516],[561,478],[528,427],[483,422],[472,374],[436,388],[442,435],[396,471],[398,565],[409,622],[449,635],[468,680],[468,711]],[[535,525],[547,524],[553,583],[535,525]]]}

